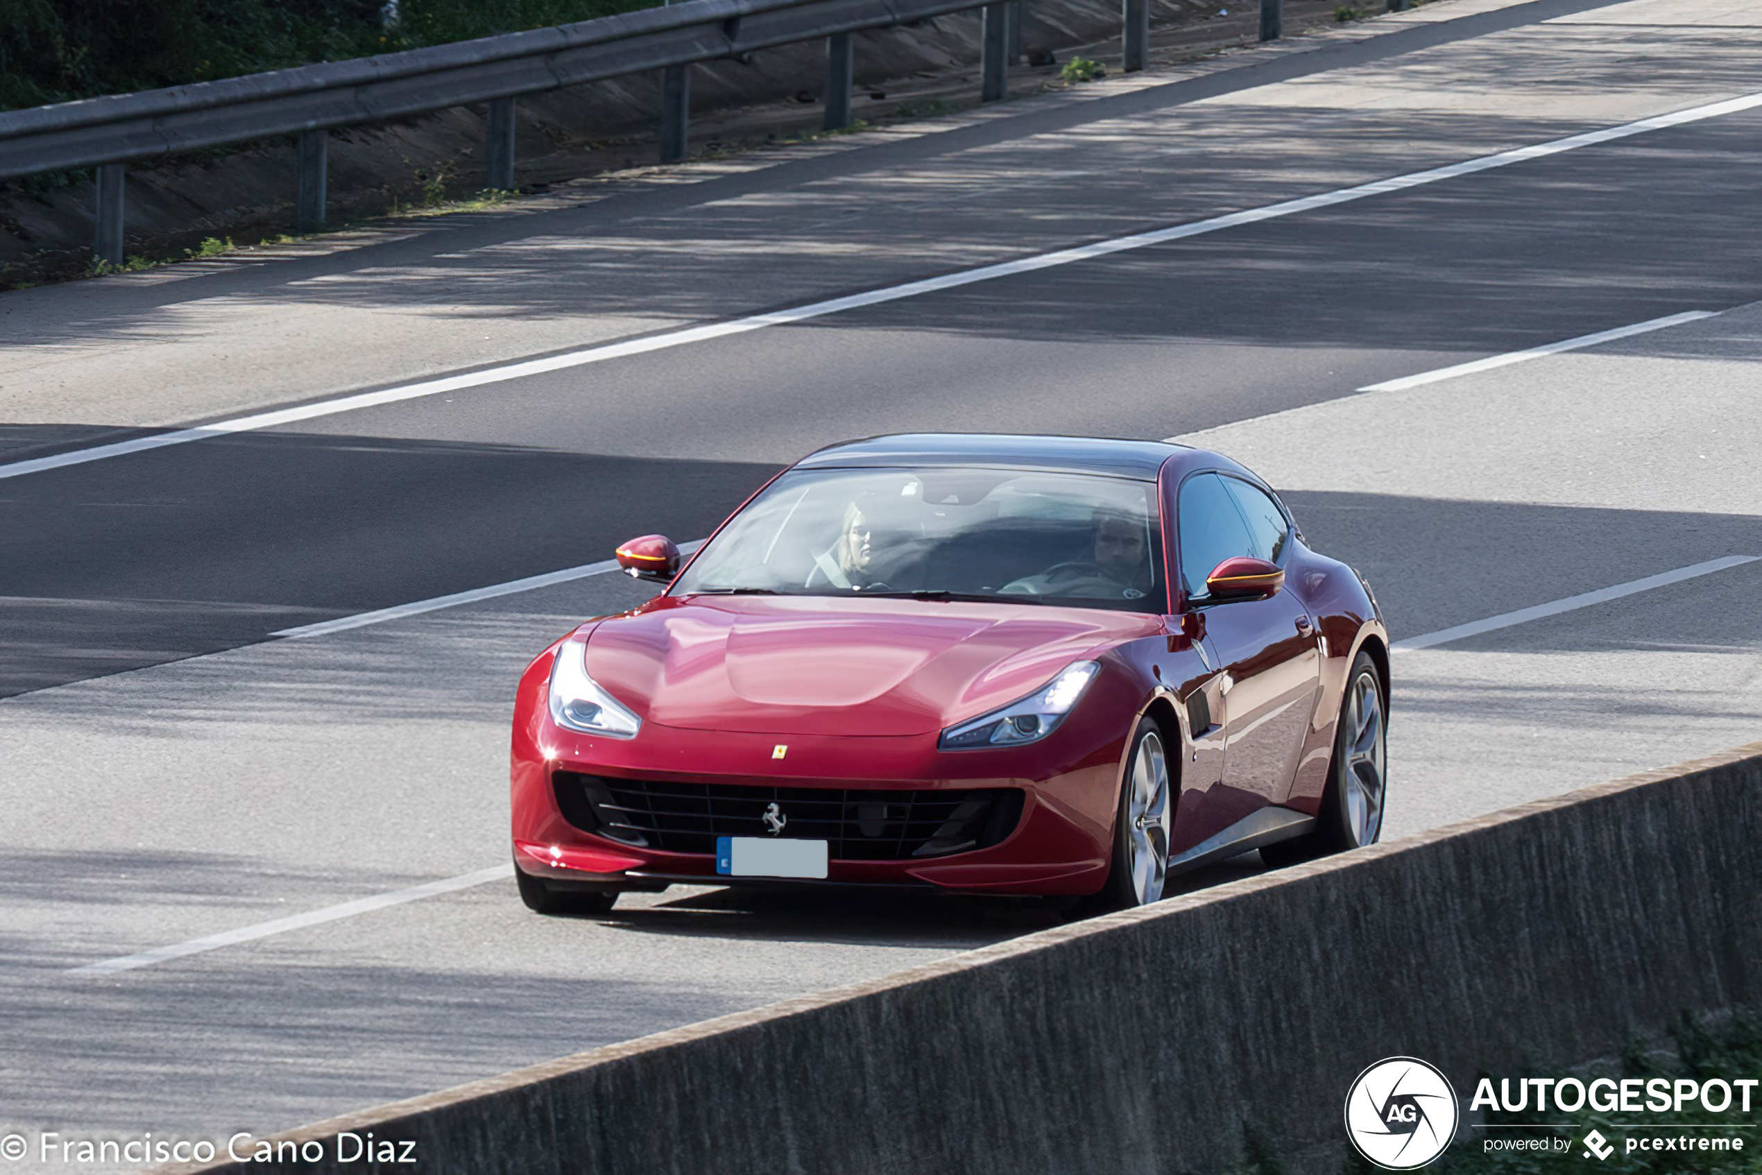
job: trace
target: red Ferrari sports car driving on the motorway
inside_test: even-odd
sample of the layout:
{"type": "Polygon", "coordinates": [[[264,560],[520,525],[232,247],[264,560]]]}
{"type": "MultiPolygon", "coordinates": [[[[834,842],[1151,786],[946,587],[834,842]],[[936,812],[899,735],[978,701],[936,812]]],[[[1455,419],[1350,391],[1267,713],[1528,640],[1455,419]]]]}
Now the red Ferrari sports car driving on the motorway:
{"type": "Polygon", "coordinates": [[[1161,897],[1376,840],[1388,634],[1235,462],[900,435],[777,474],[666,590],[520,680],[513,847],[541,913],[696,884],[1161,897]]]}

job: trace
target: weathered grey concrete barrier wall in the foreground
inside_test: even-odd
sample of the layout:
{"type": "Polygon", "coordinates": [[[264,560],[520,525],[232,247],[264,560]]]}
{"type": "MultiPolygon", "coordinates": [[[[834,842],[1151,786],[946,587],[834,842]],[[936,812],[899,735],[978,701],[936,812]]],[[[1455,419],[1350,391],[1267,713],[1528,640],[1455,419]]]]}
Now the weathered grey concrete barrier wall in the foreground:
{"type": "MultiPolygon", "coordinates": [[[[1353,1076],[1762,1001],[1762,743],[282,1136],[213,1171],[1216,1171],[1353,1076]],[[344,1133],[418,1168],[338,1163],[344,1133]]],[[[345,1154],[352,1143],[345,1149],[345,1154]]]]}

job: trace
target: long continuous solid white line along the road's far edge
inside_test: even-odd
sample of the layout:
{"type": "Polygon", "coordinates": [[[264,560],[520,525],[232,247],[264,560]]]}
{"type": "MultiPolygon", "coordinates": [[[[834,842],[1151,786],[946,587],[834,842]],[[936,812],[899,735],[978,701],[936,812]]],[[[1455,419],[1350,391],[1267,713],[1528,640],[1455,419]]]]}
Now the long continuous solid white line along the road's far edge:
{"type": "Polygon", "coordinates": [[[1457,176],[1468,176],[1477,171],[1489,171],[1492,167],[1508,167],[1512,164],[1522,164],[1533,159],[1544,159],[1547,155],[1559,155],[1561,151],[1573,151],[1579,150],[1581,146],[1596,146],[1600,143],[1625,139],[1628,136],[1644,134],[1647,130],[1665,130],[1692,122],[1720,118],[1723,115],[1736,115],[1739,111],[1748,111],[1757,106],[1762,106],[1762,92],[1746,93],[1743,97],[1727,99],[1723,102],[1707,102],[1704,106],[1693,106],[1690,109],[1674,111],[1670,115],[1656,115],[1653,118],[1642,118],[1639,122],[1623,123],[1619,127],[1586,130],[1584,134],[1568,136],[1565,139],[1551,139],[1547,143],[1535,143],[1531,146],[1521,146],[1510,151],[1499,151],[1496,155],[1482,155],[1478,159],[1468,159],[1459,164],[1429,167],[1425,171],[1411,171],[1408,174],[1390,176],[1388,180],[1374,180],[1371,183],[1360,183],[1350,188],[1336,188],[1332,192],[1304,196],[1300,199],[1281,201],[1277,204],[1265,204],[1262,208],[1249,208],[1246,211],[1232,211],[1223,217],[1210,217],[1207,220],[1195,220],[1191,224],[1177,224],[1166,229],[1154,229],[1151,233],[1135,233],[1131,236],[1119,236],[1107,241],[1094,241],[1091,245],[1080,245],[1077,248],[1061,248],[1050,254],[1040,254],[1034,257],[1022,257],[1018,261],[980,266],[976,270],[964,270],[960,273],[946,273],[943,277],[923,278],[918,282],[906,282],[902,285],[888,285],[885,289],[874,289],[862,294],[849,294],[846,298],[832,298],[826,301],[816,301],[789,310],[754,314],[744,319],[733,319],[729,322],[712,322],[707,326],[692,326],[678,331],[664,331],[661,335],[650,335],[647,338],[631,338],[617,344],[583,347],[580,351],[567,351],[564,354],[550,356],[544,359],[523,359],[520,363],[492,366],[481,372],[470,372],[467,375],[448,375],[444,379],[428,379],[414,384],[403,384],[398,388],[382,388],[381,391],[365,391],[347,396],[337,396],[333,400],[319,400],[315,403],[307,403],[292,409],[277,409],[273,412],[255,412],[252,416],[238,416],[226,421],[215,421],[211,425],[199,425],[196,428],[178,428],[174,432],[155,433],[152,437],[136,437],[134,440],[100,444],[90,449],[72,449],[69,453],[56,453],[53,456],[39,456],[26,462],[12,462],[11,465],[0,465],[0,477],[19,477],[23,474],[37,474],[49,469],[65,469],[67,465],[102,462],[111,456],[125,456],[129,453],[144,453],[148,449],[162,449],[166,446],[174,446],[174,444],[190,444],[192,440],[208,440],[211,437],[226,437],[231,433],[255,432],[261,428],[277,428],[280,425],[308,421],[319,416],[335,416],[337,412],[354,412],[356,409],[370,409],[384,403],[398,403],[402,400],[435,396],[446,391],[460,391],[463,388],[481,388],[485,384],[499,384],[511,379],[523,379],[527,375],[560,372],[573,366],[583,366],[587,363],[603,363],[606,359],[622,359],[626,356],[647,354],[650,351],[684,347],[687,344],[707,342],[710,338],[742,335],[747,331],[765,329],[768,326],[788,326],[791,322],[805,322],[809,319],[819,319],[828,314],[840,314],[844,310],[858,310],[862,307],[874,307],[886,301],[899,301],[902,298],[916,298],[920,294],[932,294],[944,289],[957,289],[960,285],[973,285],[974,282],[990,282],[994,278],[1013,277],[1017,273],[1033,273],[1036,270],[1068,266],[1078,261],[1107,257],[1108,254],[1119,254],[1133,248],[1147,248],[1151,245],[1165,245],[1168,241],[1179,241],[1182,238],[1200,236],[1203,233],[1218,233],[1221,229],[1233,229],[1244,224],[1276,220],[1279,217],[1292,217],[1302,211],[1314,211],[1316,208],[1330,208],[1334,204],[1344,204],[1371,196],[1403,192],[1406,188],[1422,187],[1425,183],[1455,180],[1457,176]]]}

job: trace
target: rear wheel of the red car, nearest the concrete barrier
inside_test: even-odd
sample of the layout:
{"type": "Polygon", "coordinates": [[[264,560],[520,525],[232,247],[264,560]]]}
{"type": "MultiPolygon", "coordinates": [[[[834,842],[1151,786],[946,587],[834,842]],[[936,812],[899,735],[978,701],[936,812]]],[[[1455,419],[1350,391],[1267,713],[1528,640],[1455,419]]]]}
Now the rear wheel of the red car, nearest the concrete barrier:
{"type": "Polygon", "coordinates": [[[1388,791],[1388,692],[1369,654],[1359,652],[1346,675],[1346,694],[1334,724],[1329,766],[1314,831],[1262,846],[1260,860],[1274,868],[1376,844],[1383,833],[1388,791]]]}

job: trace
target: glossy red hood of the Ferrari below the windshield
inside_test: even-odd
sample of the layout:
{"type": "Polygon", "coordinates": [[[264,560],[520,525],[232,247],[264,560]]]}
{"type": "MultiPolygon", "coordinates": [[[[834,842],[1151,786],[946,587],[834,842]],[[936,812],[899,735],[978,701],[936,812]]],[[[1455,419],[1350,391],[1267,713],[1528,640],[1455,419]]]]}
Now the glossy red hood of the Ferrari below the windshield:
{"type": "Polygon", "coordinates": [[[1089,608],[825,595],[661,597],[601,622],[587,671],[643,721],[763,735],[920,735],[1161,631],[1089,608]]]}

